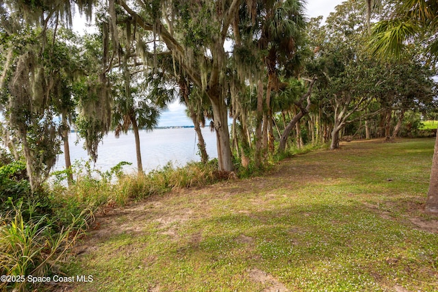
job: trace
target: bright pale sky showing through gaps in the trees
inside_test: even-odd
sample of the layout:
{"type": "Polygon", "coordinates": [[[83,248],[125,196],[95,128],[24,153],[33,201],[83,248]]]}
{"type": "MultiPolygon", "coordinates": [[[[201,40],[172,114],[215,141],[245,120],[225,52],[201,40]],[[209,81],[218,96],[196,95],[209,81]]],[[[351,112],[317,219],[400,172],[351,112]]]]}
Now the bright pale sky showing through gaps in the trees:
{"type": "MultiPolygon", "coordinates": [[[[342,3],[343,0],[307,0],[307,17],[324,16],[324,20],[329,16],[330,12],[335,11],[335,6],[342,3]]],[[[79,17],[75,18],[73,27],[77,27],[77,31],[82,32],[84,29],[83,24],[86,23],[85,19],[79,17]]],[[[323,21],[324,21],[323,20],[323,21]]],[[[159,127],[172,127],[172,126],[191,126],[192,120],[185,114],[185,106],[180,105],[178,102],[171,103],[168,109],[164,111],[159,118],[159,127]]]]}

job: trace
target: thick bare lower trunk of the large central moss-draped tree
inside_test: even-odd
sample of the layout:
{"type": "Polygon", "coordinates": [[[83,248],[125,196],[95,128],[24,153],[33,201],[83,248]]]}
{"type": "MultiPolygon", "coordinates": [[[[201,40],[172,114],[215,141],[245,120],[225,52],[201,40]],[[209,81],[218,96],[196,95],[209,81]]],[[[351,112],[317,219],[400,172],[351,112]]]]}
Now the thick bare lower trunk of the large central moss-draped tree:
{"type": "Polygon", "coordinates": [[[218,146],[218,164],[220,171],[232,172],[234,170],[231,160],[230,134],[228,131],[227,105],[220,96],[209,96],[214,116],[214,129],[218,146]]]}

